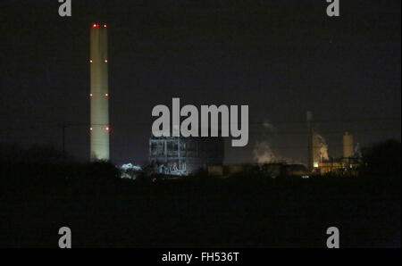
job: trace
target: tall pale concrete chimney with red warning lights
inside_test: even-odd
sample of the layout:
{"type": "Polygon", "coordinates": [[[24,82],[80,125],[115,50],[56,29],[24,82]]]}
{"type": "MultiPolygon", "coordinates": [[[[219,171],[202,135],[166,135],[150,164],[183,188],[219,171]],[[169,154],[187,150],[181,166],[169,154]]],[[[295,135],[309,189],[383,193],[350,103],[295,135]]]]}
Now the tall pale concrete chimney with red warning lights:
{"type": "Polygon", "coordinates": [[[109,85],[107,68],[107,26],[93,24],[90,29],[90,160],[110,159],[109,85]]]}

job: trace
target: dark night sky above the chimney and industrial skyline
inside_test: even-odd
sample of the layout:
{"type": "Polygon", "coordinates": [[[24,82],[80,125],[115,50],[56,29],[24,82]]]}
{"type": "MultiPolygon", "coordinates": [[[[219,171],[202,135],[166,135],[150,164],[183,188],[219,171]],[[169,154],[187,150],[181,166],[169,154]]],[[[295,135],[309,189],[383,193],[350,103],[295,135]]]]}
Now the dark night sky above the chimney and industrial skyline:
{"type": "Polygon", "coordinates": [[[250,140],[306,161],[306,111],[329,154],[343,131],[362,146],[400,140],[400,1],[1,1],[0,142],[89,158],[89,29],[106,22],[112,162],[147,161],[156,104],[248,104],[250,140]],[[247,4],[246,4],[247,3],[247,4]],[[274,129],[264,129],[264,121],[274,129]]]}

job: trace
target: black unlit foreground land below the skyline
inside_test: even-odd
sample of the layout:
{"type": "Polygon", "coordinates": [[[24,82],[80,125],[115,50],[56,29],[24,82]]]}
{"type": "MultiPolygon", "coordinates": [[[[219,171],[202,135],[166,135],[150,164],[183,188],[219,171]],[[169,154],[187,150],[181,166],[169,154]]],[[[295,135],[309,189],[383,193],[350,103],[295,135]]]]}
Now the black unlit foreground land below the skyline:
{"type": "Polygon", "coordinates": [[[331,226],[341,247],[400,246],[400,177],[151,183],[107,165],[7,167],[2,247],[57,247],[63,226],[73,247],[325,247],[331,226]]]}

